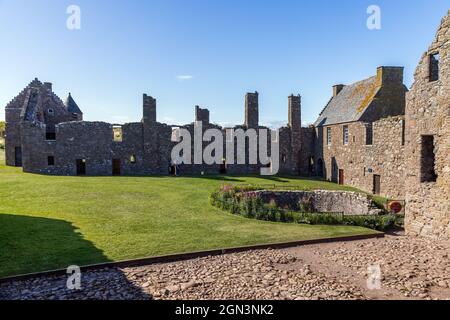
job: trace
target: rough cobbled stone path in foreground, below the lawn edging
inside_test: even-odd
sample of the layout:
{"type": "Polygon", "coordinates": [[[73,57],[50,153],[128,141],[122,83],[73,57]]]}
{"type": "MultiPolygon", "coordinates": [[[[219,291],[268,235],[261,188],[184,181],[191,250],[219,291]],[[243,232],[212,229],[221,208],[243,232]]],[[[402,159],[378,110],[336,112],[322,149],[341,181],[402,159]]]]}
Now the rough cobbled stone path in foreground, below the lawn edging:
{"type": "Polygon", "coordinates": [[[450,244],[405,236],[0,284],[0,299],[450,299],[450,244]],[[367,288],[379,265],[381,288],[367,288]]]}

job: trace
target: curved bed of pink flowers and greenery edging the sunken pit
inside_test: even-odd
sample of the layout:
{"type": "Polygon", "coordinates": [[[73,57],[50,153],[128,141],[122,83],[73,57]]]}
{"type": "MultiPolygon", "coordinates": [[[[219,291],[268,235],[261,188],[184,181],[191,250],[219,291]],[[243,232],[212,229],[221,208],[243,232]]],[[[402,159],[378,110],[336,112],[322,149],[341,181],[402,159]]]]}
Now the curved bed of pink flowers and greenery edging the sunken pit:
{"type": "Polygon", "coordinates": [[[303,224],[350,225],[385,231],[395,226],[395,215],[344,215],[343,213],[311,212],[311,206],[299,205],[299,210],[280,208],[275,200],[263,201],[254,186],[223,186],[210,196],[211,204],[246,218],[303,224]]]}

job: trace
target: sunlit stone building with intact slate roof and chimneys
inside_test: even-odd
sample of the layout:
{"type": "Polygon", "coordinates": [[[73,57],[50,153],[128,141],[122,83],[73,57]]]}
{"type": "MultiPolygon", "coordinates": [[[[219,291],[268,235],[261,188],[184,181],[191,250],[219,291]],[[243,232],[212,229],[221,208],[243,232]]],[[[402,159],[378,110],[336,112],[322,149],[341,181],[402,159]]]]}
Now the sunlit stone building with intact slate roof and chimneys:
{"type": "Polygon", "coordinates": [[[404,197],[403,68],[336,85],[315,122],[312,161],[318,176],[374,194],[404,197]]]}

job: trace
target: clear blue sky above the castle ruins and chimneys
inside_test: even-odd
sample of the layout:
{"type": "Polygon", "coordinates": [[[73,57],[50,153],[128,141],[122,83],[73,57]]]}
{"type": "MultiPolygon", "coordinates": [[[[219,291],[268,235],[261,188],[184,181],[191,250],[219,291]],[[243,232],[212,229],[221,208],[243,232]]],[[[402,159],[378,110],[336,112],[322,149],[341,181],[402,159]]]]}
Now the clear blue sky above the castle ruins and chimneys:
{"type": "Polygon", "coordinates": [[[85,120],[140,121],[142,94],[158,120],[242,124],[244,95],[260,93],[260,122],[287,122],[287,96],[302,95],[311,123],[331,87],[405,67],[405,84],[450,0],[0,0],[0,119],[32,79],[70,91],[85,120]],[[81,29],[69,30],[69,5],[81,29]],[[366,26],[369,5],[381,30],[366,26]]]}

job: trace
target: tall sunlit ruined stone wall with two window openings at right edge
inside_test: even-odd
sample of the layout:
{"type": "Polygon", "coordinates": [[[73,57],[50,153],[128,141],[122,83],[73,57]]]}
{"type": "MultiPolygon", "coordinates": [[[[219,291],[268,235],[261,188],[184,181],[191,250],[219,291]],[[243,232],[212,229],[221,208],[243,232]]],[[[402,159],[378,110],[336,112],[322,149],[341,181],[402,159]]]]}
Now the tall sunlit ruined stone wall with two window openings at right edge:
{"type": "Polygon", "coordinates": [[[406,103],[405,228],[410,235],[449,239],[450,11],[422,56],[414,79],[406,103]],[[436,66],[430,65],[434,54],[439,54],[440,60],[437,75],[430,73],[436,70],[436,66]],[[432,142],[431,150],[427,149],[426,141],[432,142]],[[426,151],[434,153],[434,163],[433,157],[424,158],[426,151]]]}

